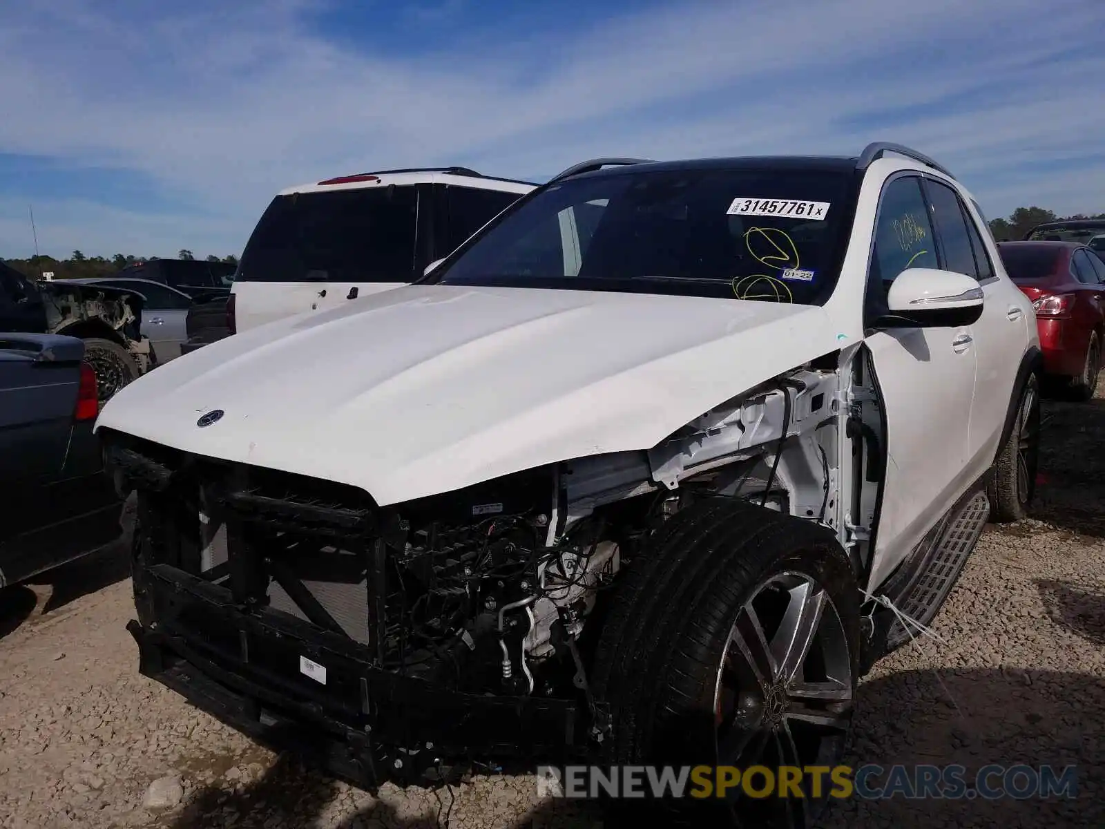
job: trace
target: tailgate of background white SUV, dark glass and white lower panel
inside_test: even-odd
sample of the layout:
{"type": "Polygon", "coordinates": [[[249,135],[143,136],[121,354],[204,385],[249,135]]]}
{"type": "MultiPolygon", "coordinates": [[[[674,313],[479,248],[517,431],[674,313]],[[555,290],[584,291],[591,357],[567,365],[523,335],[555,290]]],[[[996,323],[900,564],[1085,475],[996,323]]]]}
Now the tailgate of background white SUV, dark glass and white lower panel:
{"type": "Polygon", "coordinates": [[[234,276],[238,330],[411,282],[419,199],[413,185],[277,196],[234,276]]]}

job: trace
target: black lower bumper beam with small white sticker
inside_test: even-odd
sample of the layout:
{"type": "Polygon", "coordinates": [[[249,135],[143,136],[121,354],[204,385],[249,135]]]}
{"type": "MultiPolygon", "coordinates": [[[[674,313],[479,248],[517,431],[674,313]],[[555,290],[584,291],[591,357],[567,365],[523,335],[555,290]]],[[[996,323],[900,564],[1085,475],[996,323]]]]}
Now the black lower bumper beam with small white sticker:
{"type": "Polygon", "coordinates": [[[441,764],[571,753],[573,702],[451,692],[372,668],[340,637],[278,611],[242,612],[169,565],[136,566],[135,592],[148,621],[127,629],[143,675],[366,788],[432,779],[441,764]],[[312,674],[325,685],[303,659],[325,669],[312,674]]]}

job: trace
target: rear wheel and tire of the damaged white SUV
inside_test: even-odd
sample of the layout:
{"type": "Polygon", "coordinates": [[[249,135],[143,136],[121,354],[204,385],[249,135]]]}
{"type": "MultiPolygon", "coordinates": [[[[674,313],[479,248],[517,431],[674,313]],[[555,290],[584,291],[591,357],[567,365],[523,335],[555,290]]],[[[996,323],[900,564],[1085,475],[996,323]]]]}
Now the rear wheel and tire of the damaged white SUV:
{"type": "Polygon", "coordinates": [[[987,485],[990,520],[998,524],[1020,521],[1028,515],[1035,495],[1040,459],[1040,379],[1029,375],[1017,402],[1013,426],[993,463],[987,485]]]}

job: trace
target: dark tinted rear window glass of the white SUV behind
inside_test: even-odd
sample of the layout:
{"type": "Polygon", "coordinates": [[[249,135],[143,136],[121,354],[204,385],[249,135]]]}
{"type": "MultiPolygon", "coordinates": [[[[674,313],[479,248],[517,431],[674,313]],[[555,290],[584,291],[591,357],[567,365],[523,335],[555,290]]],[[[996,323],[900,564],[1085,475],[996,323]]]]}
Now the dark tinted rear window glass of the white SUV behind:
{"type": "Polygon", "coordinates": [[[410,282],[418,190],[277,196],[242,252],[236,282],[410,282]]]}

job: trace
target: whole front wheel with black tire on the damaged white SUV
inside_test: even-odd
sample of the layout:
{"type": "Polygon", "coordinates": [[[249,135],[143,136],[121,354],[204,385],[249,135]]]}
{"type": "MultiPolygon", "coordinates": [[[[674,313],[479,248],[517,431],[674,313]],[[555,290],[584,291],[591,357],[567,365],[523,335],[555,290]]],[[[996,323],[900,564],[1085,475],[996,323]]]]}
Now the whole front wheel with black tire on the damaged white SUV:
{"type": "MultiPolygon", "coordinates": [[[[859,675],[860,592],[835,536],[716,499],[669,520],[629,568],[596,655],[614,764],[838,765],[859,675]]],[[[812,798],[709,798],[675,819],[807,826],[812,798]]],[[[690,784],[688,784],[690,785],[690,784]]],[[[754,788],[765,785],[755,777],[754,788]]]]}

